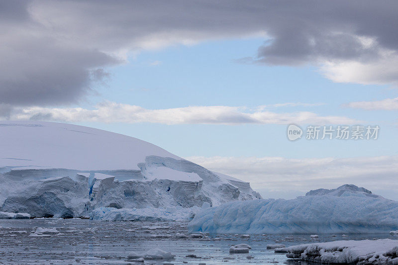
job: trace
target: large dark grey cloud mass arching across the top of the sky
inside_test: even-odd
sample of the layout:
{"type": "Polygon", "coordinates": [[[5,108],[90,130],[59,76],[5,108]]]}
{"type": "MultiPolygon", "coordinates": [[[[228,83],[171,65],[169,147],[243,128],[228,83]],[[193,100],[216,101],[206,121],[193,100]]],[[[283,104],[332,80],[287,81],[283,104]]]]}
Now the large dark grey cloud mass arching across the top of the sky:
{"type": "Polygon", "coordinates": [[[397,7],[395,0],[1,1],[0,103],[76,102],[99,69],[129,54],[255,35],[267,37],[258,63],[313,64],[336,82],[396,84],[397,7]]]}

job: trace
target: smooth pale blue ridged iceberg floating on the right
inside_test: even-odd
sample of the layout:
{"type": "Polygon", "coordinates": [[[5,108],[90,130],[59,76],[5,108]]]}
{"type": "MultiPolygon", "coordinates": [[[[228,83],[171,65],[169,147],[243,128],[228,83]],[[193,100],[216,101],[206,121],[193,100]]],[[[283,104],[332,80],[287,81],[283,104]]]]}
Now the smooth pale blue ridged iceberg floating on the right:
{"type": "Polygon", "coordinates": [[[190,233],[338,234],[398,230],[398,202],[354,185],[308,192],[296,199],[228,202],[202,209],[190,233]]]}

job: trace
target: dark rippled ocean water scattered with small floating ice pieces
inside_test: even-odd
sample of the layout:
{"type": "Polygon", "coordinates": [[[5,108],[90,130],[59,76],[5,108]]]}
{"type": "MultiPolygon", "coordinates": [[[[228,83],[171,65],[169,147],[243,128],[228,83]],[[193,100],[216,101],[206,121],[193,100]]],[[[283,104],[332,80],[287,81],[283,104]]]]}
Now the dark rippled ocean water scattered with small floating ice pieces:
{"type": "Polygon", "coordinates": [[[0,220],[0,264],[288,264],[310,263],[288,260],[285,254],[267,250],[268,244],[287,247],[332,240],[394,238],[389,234],[347,235],[208,235],[208,239],[178,238],[187,233],[187,222],[105,222],[82,219],[0,220]],[[59,234],[30,236],[38,227],[56,228],[59,234]],[[293,238],[293,239],[286,239],[293,238]],[[275,243],[275,241],[282,241],[275,243]],[[249,254],[230,254],[232,245],[245,243],[249,254]],[[137,263],[127,259],[130,252],[159,248],[176,255],[172,260],[137,263]],[[253,259],[247,259],[253,256],[253,259]]]}

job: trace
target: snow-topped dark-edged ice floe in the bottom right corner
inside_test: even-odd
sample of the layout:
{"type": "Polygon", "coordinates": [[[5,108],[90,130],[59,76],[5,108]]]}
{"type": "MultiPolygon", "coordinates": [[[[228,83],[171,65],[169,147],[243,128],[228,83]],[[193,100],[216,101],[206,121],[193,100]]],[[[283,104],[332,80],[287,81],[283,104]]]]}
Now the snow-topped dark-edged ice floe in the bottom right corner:
{"type": "Polygon", "coordinates": [[[286,256],[323,264],[398,264],[398,240],[333,241],[278,249],[286,256]]]}

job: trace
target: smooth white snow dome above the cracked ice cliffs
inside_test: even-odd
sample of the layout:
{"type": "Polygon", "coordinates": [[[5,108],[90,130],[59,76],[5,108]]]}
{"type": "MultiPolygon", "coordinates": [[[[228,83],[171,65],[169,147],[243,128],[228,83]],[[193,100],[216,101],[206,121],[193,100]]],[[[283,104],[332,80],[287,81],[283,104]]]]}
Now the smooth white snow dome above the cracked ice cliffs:
{"type": "Polygon", "coordinates": [[[147,156],[181,158],[137,138],[54,122],[0,121],[0,166],[139,170],[147,156]]]}

